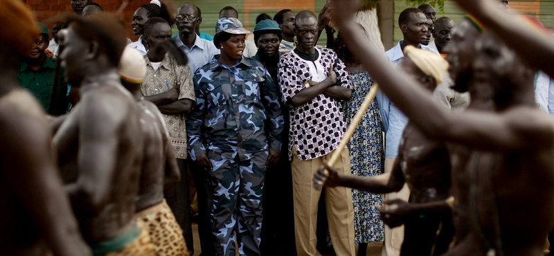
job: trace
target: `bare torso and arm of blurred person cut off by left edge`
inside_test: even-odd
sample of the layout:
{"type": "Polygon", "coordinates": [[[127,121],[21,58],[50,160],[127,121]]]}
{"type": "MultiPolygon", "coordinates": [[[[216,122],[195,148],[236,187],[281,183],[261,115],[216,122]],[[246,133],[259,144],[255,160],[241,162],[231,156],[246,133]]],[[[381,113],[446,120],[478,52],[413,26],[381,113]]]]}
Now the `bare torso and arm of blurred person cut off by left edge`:
{"type": "Polygon", "coordinates": [[[0,96],[0,122],[1,254],[87,255],[55,168],[42,108],[17,86],[0,96]]]}

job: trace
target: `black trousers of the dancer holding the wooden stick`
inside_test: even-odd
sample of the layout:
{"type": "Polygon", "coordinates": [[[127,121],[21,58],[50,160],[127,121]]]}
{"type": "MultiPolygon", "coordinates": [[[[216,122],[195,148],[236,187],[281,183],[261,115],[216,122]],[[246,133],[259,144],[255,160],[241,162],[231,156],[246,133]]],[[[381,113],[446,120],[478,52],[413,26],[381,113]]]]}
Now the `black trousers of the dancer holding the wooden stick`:
{"type": "Polygon", "coordinates": [[[400,255],[443,255],[454,237],[452,214],[418,214],[404,223],[404,243],[400,255]],[[437,235],[437,230],[440,233],[437,235]]]}

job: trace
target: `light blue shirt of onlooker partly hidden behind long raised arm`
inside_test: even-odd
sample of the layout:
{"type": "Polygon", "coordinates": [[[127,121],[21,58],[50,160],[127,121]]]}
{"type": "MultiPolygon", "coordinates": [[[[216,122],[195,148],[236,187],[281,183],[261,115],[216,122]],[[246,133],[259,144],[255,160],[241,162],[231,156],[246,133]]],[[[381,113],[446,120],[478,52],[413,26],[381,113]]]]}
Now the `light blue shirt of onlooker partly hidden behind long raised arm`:
{"type": "MultiPolygon", "coordinates": [[[[393,66],[397,66],[398,62],[404,57],[402,53],[402,41],[398,42],[396,46],[391,50],[386,51],[385,57],[393,66]]],[[[428,46],[421,45],[423,50],[432,51],[437,55],[440,55],[438,51],[435,51],[428,46]]],[[[398,155],[398,145],[400,145],[400,138],[402,138],[402,131],[408,123],[408,118],[404,116],[404,113],[397,109],[395,104],[382,93],[378,91],[375,96],[377,104],[379,104],[379,111],[381,111],[383,131],[385,132],[385,157],[396,158],[398,155]]]]}

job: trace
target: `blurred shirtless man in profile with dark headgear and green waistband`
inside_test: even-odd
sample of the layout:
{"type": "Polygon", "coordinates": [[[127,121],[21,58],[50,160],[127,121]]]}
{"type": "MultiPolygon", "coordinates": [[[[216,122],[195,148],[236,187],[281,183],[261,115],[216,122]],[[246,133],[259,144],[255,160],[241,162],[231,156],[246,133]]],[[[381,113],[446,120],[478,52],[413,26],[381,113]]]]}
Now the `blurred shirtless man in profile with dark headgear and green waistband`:
{"type": "Polygon", "coordinates": [[[62,31],[60,60],[67,82],[80,86],[81,100],[54,141],[62,171],[73,176],[66,191],[82,235],[93,255],[153,256],[148,232],[134,219],[143,136],[140,109],[117,73],[123,23],[98,13],[71,17],[62,31]]]}

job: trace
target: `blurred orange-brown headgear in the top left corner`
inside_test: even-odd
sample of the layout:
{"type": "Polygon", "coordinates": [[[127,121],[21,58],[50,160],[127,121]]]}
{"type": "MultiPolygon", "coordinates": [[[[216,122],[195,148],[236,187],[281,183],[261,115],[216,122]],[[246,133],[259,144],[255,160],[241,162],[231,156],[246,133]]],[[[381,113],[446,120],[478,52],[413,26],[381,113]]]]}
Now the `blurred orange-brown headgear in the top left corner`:
{"type": "Polygon", "coordinates": [[[21,0],[0,0],[0,44],[27,55],[39,35],[37,21],[21,0]]]}

